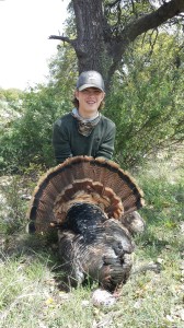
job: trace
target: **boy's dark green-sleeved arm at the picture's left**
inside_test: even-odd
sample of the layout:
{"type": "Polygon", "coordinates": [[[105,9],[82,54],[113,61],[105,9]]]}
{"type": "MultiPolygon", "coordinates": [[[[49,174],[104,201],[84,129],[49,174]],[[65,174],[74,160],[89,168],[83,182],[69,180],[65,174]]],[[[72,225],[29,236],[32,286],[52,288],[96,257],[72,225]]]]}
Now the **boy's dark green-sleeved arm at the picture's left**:
{"type": "Polygon", "coordinates": [[[69,136],[64,127],[62,120],[57,120],[53,129],[53,147],[57,164],[62,163],[66,159],[71,157],[69,136]]]}

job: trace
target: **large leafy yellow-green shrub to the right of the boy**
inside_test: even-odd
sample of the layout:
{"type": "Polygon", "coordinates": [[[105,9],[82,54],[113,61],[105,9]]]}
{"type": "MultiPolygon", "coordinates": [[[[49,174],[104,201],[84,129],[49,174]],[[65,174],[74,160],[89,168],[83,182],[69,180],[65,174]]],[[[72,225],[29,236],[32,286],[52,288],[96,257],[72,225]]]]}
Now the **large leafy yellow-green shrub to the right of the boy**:
{"type": "Polygon", "coordinates": [[[184,139],[184,58],[177,42],[164,34],[152,56],[149,45],[129,49],[124,69],[116,72],[105,114],[117,127],[115,160],[134,166],[159,150],[184,139]],[[165,61],[165,52],[168,60],[165,61]]]}

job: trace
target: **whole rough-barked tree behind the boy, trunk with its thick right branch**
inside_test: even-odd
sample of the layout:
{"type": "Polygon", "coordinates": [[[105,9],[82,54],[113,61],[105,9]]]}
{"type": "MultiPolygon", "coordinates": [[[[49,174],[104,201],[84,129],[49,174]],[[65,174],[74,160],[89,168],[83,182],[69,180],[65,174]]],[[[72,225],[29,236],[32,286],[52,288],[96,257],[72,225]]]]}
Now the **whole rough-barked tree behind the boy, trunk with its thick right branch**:
{"type": "MultiPolygon", "coordinates": [[[[115,1],[111,3],[111,7],[117,2],[123,3],[120,0],[115,1]]],[[[129,44],[142,33],[157,28],[184,12],[184,0],[171,0],[157,10],[152,9],[148,14],[139,16],[135,14],[131,22],[126,25],[119,24],[118,33],[114,34],[113,26],[107,23],[103,0],[72,0],[72,3],[77,38],[70,39],[57,35],[50,35],[49,38],[71,44],[78,58],[79,73],[84,70],[101,72],[105,80],[106,91],[129,44]]]]}

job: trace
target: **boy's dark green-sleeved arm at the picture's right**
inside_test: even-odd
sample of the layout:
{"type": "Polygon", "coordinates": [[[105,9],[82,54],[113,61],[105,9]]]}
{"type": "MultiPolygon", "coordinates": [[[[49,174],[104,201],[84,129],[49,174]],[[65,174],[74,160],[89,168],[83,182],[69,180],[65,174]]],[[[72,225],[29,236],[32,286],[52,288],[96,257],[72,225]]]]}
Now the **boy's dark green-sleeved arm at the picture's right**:
{"type": "Polygon", "coordinates": [[[115,134],[116,134],[116,126],[114,124],[107,128],[107,133],[104,137],[100,148],[96,152],[95,157],[105,157],[111,160],[114,152],[114,142],[115,142],[115,134]]]}

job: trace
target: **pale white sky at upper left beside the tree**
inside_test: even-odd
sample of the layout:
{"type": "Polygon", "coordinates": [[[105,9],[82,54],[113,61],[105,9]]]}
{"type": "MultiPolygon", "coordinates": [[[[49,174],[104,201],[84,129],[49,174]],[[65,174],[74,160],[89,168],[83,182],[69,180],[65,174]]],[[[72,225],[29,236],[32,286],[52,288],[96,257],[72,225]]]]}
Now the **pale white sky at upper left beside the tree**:
{"type": "Polygon", "coordinates": [[[0,87],[25,90],[48,75],[69,0],[0,0],[0,87]]]}

